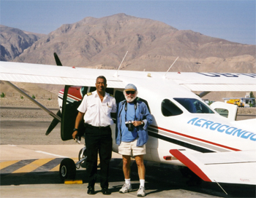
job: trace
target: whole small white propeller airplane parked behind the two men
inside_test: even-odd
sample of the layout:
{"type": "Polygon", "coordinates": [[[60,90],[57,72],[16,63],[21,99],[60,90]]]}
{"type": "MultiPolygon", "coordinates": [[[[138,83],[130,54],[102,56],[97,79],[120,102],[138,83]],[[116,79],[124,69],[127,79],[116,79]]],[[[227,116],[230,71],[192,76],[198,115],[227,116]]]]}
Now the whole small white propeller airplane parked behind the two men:
{"type": "MultiPolygon", "coordinates": [[[[114,95],[117,102],[124,100],[124,87],[132,83],[138,87],[138,100],[146,102],[151,111],[154,121],[148,127],[144,159],[189,167],[204,181],[256,184],[256,119],[236,121],[236,106],[221,102],[208,106],[200,98],[211,91],[255,91],[256,74],[114,71],[59,66],[0,62],[0,80],[7,81],[16,90],[18,88],[10,82],[65,85],[59,92],[61,112],[58,114],[34,101],[54,117],[47,134],[61,122],[61,139],[72,139],[76,108],[86,92],[95,90],[97,76],[103,75],[108,81],[107,92],[114,95]],[[195,95],[192,91],[203,92],[195,95]],[[227,117],[216,110],[227,110],[227,117]]],[[[111,128],[113,151],[118,152],[115,124],[111,128]]],[[[83,131],[82,127],[80,130],[83,131]]],[[[79,156],[78,163],[83,163],[86,147],[79,156]]],[[[70,163],[61,162],[62,178],[72,178],[75,174],[75,163],[70,163]]]]}

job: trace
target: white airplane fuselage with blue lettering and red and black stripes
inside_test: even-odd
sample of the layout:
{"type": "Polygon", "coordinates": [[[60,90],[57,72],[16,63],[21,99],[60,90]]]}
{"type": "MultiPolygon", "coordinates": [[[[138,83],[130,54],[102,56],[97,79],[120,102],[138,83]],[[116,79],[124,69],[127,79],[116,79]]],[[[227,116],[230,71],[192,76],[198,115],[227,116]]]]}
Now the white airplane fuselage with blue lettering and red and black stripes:
{"type": "MultiPolygon", "coordinates": [[[[88,87],[83,87],[82,90],[81,87],[71,87],[67,100],[69,103],[82,100],[85,92],[89,90],[88,87]]],[[[152,94],[148,87],[138,86],[138,90],[138,96],[147,99],[146,103],[153,116],[153,123],[148,127],[149,138],[144,156],[146,160],[183,165],[171,156],[170,149],[185,149],[190,153],[211,153],[255,148],[256,131],[252,124],[230,122],[193,93],[185,97],[175,90],[162,95],[152,94]]],[[[59,92],[60,107],[63,91],[59,92]]],[[[123,90],[113,89],[112,92],[117,101],[121,100],[123,90]]],[[[113,124],[111,129],[113,151],[118,153],[116,124],[113,124]]]]}

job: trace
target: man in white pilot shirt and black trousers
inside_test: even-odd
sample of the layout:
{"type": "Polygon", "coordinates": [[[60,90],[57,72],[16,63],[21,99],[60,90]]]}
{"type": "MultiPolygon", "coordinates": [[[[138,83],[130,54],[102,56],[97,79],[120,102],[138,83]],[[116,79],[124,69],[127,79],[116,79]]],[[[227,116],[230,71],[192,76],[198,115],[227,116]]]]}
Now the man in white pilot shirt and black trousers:
{"type": "Polygon", "coordinates": [[[102,194],[111,194],[108,190],[109,162],[112,155],[112,134],[110,125],[113,124],[110,113],[116,113],[116,99],[105,89],[105,76],[96,79],[96,91],[87,93],[78,107],[75,128],[72,138],[78,135],[80,122],[85,121],[86,137],[86,171],[89,175],[87,194],[95,194],[94,184],[97,181],[97,159],[100,160],[100,186],[102,194]]]}

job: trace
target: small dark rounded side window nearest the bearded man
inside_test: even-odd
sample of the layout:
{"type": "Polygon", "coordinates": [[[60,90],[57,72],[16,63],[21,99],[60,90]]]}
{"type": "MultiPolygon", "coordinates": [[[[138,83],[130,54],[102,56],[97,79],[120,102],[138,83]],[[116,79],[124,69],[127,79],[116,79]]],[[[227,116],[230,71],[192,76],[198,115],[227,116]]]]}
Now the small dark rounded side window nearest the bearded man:
{"type": "Polygon", "coordinates": [[[164,116],[178,116],[183,113],[172,101],[162,100],[161,111],[164,116]]]}

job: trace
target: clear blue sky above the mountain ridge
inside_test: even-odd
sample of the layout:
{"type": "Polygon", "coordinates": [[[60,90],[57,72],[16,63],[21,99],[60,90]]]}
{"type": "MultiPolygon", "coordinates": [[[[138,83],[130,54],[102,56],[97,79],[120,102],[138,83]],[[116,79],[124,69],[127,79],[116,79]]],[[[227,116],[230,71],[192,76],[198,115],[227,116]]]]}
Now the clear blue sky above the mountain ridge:
{"type": "Polygon", "coordinates": [[[242,44],[255,43],[255,0],[242,1],[12,1],[0,0],[0,23],[34,33],[50,33],[84,17],[125,13],[159,20],[178,30],[242,44]]]}

